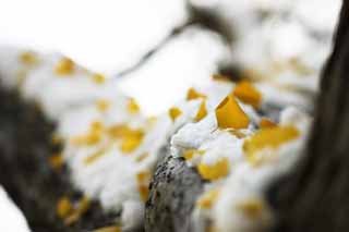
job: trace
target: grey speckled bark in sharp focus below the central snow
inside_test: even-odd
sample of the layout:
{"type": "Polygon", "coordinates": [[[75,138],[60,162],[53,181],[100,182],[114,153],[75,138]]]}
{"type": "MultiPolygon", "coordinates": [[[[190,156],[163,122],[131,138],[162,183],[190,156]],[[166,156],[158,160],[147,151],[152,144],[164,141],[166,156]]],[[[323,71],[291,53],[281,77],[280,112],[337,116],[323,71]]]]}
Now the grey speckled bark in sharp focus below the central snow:
{"type": "Polygon", "coordinates": [[[191,231],[190,215],[204,181],[181,158],[167,154],[158,164],[146,204],[145,231],[191,231]]]}

